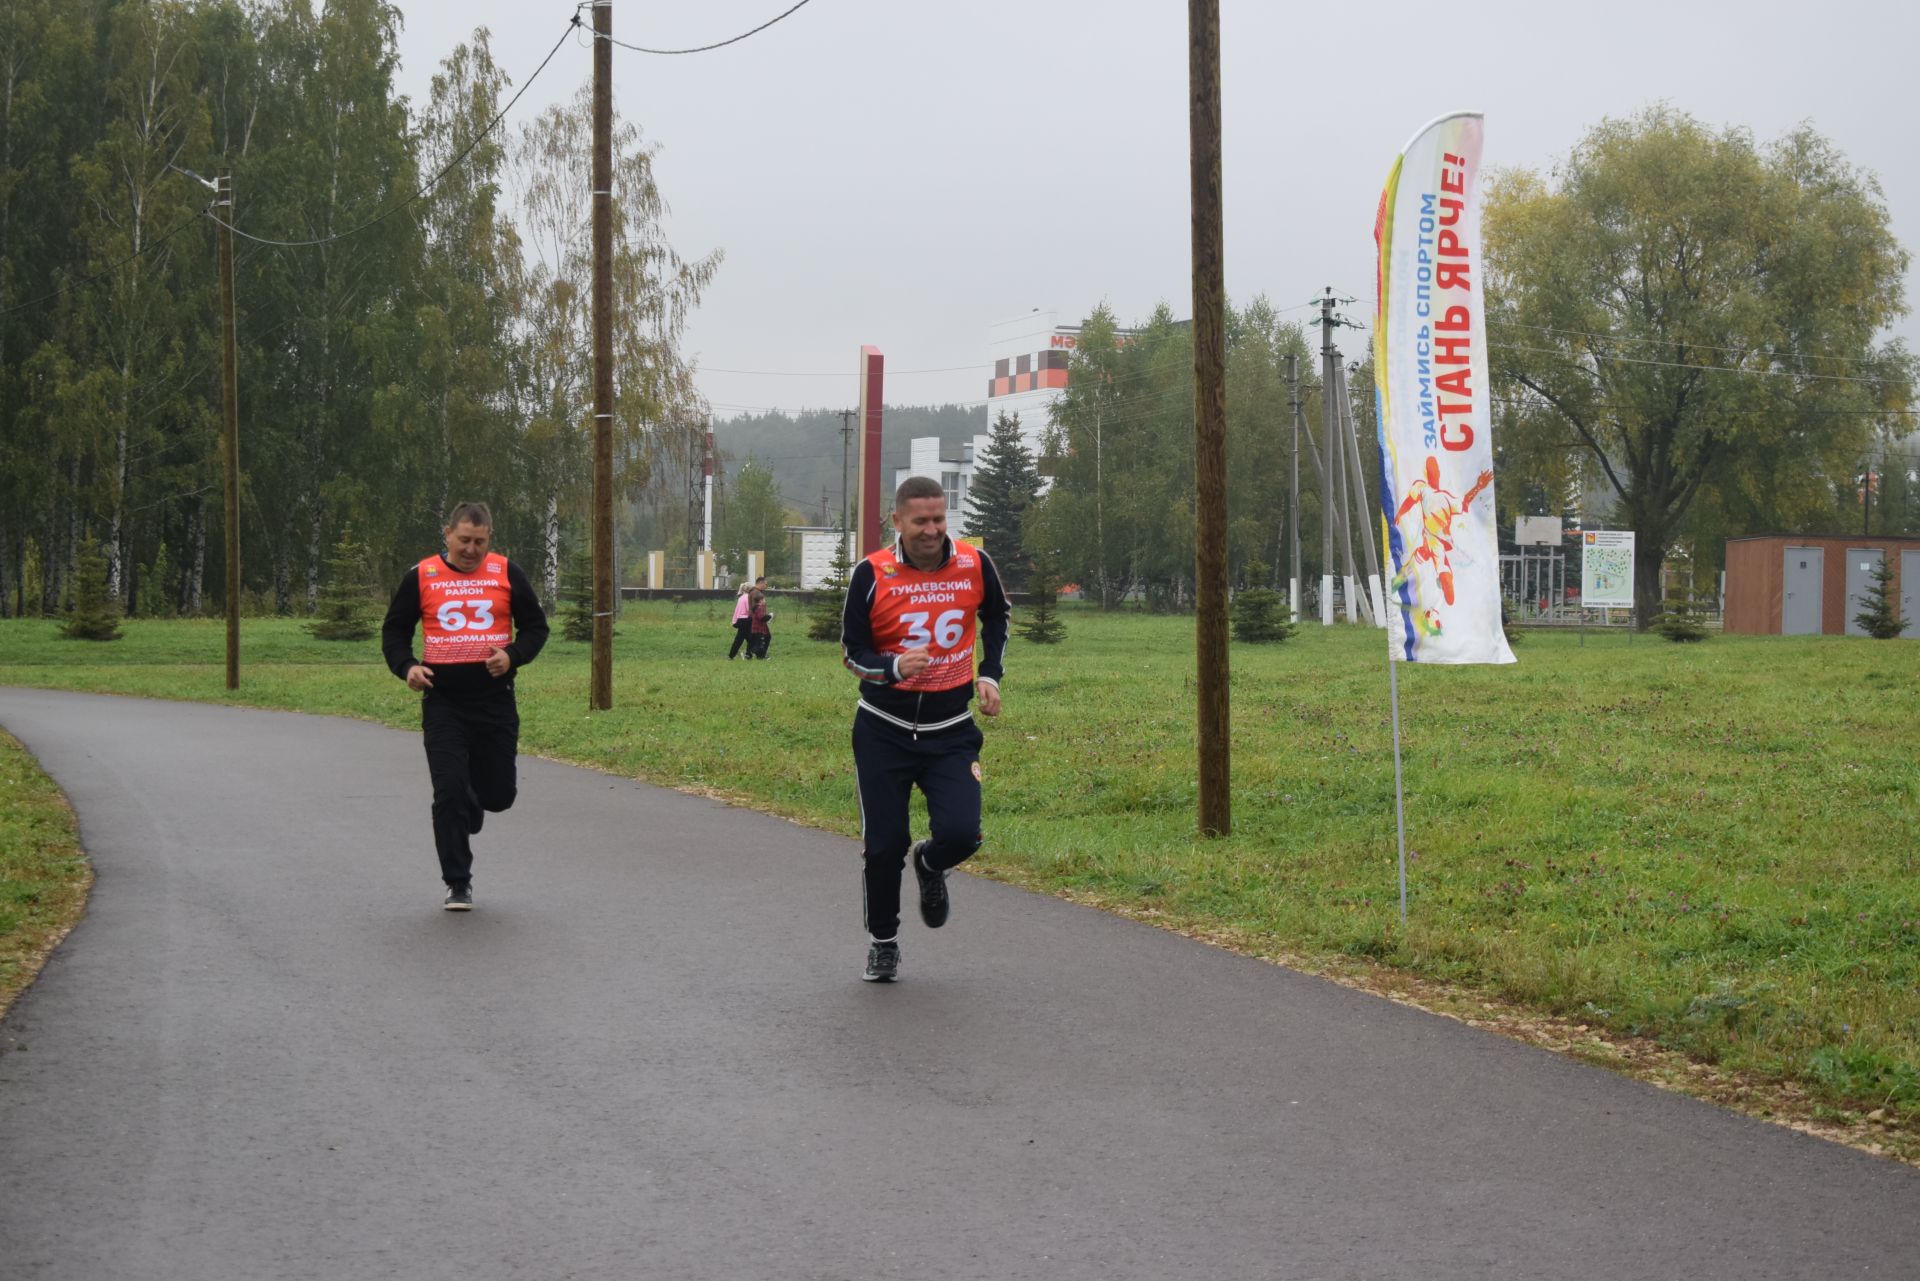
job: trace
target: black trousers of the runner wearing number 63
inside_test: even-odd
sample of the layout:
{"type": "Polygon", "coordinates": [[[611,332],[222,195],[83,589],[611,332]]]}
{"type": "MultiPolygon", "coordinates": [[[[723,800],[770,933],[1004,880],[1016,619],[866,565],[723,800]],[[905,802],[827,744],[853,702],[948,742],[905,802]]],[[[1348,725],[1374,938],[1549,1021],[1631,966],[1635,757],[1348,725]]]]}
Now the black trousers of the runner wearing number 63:
{"type": "Polygon", "coordinates": [[[513,807],[518,791],[513,757],[520,747],[520,711],[513,689],[472,699],[426,691],[420,699],[426,768],[434,776],[434,849],[440,878],[465,885],[474,851],[467,843],[474,805],[493,814],[513,807]]]}

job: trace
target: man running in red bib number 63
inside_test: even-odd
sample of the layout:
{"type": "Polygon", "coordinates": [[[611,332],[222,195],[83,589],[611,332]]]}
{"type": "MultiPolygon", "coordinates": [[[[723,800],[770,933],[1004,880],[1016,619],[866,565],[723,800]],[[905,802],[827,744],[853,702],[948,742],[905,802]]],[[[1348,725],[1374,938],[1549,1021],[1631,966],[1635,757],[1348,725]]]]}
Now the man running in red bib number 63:
{"type": "Polygon", "coordinates": [[[547,643],[547,615],[520,567],[492,551],[493,513],[461,503],[442,530],[447,549],[399,580],[380,626],[386,665],[420,691],[426,770],[434,780],[434,849],[444,906],[474,905],[472,845],[488,810],[513,807],[520,711],[513,674],[547,643]],[[422,630],[424,661],[413,657],[422,630]],[[518,632],[518,636],[516,636],[518,632]]]}

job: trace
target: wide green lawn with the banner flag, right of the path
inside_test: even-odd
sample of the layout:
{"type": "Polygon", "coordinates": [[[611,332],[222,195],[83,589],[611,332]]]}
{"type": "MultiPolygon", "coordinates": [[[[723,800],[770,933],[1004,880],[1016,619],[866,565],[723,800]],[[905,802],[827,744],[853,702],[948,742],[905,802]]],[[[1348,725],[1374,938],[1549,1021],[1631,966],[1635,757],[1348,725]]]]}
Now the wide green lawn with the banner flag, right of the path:
{"type": "MultiPolygon", "coordinates": [[[[520,676],[522,749],[854,835],[837,651],[776,624],[770,663],[730,665],[724,615],[628,607],[614,711],[593,716],[586,647],[555,641],[520,676]]],[[[1797,1099],[1799,1116],[1920,1152],[1920,645],[1534,634],[1517,666],[1404,670],[1402,930],[1379,632],[1235,647],[1235,834],[1200,841],[1192,620],[1066,618],[1064,645],[1014,641],[1006,713],[985,726],[989,845],[970,866],[1246,951],[1469,991],[1572,1052],[1605,1037],[1786,1083],[1743,1106],[1797,1099]]],[[[50,622],[0,638],[0,684],[419,724],[372,643],[298,622],[248,622],[238,697],[219,622],[136,622],[108,645],[50,622]]]]}

